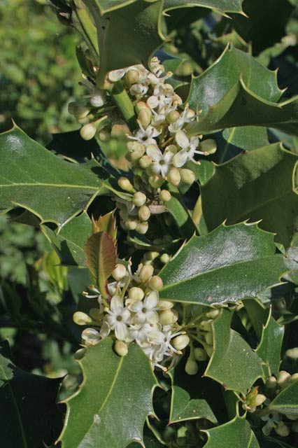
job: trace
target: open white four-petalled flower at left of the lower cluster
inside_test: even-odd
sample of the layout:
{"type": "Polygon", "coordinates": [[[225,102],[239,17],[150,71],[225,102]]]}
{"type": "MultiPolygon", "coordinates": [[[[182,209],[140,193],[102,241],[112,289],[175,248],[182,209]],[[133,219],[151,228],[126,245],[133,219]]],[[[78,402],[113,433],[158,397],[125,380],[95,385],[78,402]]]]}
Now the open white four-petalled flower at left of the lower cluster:
{"type": "Polygon", "coordinates": [[[127,325],[130,323],[129,309],[123,306],[123,301],[119,295],[114,295],[111,299],[111,309],[106,321],[110,328],[115,331],[115,337],[120,341],[126,339],[128,335],[127,325]]]}

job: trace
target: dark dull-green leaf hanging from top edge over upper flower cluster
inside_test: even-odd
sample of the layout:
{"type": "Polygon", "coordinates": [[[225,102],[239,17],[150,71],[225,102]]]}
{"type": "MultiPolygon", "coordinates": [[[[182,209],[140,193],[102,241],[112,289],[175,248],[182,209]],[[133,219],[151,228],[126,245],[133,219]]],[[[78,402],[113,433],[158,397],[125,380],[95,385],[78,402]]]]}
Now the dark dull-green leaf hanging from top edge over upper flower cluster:
{"type": "Polygon", "coordinates": [[[162,0],[117,1],[113,7],[108,7],[111,1],[87,0],[87,5],[97,27],[99,83],[104,82],[108,71],[135,64],[148,66],[164,40],[160,27],[162,0]]]}

